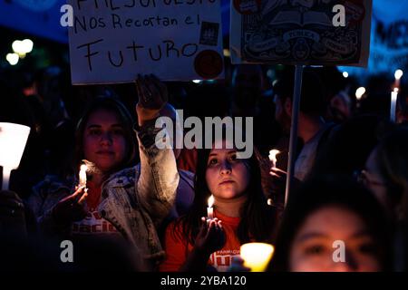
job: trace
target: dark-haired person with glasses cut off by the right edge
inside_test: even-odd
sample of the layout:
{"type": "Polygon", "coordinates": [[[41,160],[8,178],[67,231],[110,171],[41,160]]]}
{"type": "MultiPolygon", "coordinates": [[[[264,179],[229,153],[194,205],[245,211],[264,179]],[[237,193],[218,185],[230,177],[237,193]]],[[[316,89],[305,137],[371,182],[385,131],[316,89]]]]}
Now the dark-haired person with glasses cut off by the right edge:
{"type": "Polygon", "coordinates": [[[402,128],[387,135],[374,148],[359,176],[396,222],[395,270],[407,268],[408,204],[408,130],[402,128]],[[404,260],[405,259],[405,260],[404,260]]]}

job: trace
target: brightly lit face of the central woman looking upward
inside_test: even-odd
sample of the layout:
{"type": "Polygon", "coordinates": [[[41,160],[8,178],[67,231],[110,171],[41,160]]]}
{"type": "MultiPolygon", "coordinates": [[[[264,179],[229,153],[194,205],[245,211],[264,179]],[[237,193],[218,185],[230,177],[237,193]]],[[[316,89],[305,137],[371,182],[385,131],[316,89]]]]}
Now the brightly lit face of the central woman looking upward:
{"type": "Polygon", "coordinates": [[[217,199],[241,197],[245,194],[250,180],[248,160],[237,159],[237,150],[227,149],[227,142],[216,142],[214,149],[209,152],[207,162],[207,184],[209,191],[217,199]],[[221,145],[222,149],[216,149],[221,145]]]}

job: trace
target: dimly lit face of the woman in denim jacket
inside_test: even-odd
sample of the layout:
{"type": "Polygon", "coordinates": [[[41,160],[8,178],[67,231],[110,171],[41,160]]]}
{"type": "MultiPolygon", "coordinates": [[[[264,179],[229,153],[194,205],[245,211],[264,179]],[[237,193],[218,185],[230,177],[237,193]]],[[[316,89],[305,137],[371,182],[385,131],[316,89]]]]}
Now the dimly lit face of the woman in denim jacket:
{"type": "Polygon", "coordinates": [[[123,127],[112,111],[94,111],[83,132],[83,152],[102,172],[109,172],[125,157],[126,141],[123,127]]]}

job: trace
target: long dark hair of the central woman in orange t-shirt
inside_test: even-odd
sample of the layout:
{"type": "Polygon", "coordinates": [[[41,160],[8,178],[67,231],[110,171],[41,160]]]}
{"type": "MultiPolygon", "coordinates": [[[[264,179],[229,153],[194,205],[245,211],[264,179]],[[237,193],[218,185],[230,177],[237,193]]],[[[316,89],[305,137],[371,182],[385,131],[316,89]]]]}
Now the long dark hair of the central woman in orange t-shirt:
{"type": "MultiPolygon", "coordinates": [[[[211,196],[206,180],[209,152],[211,150],[203,149],[198,151],[199,158],[194,182],[195,198],[188,214],[179,218],[175,223],[175,227],[181,227],[181,237],[187,237],[187,242],[190,245],[195,243],[195,238],[199,233],[200,218],[207,215],[207,202],[211,196]]],[[[261,174],[256,154],[252,154],[244,162],[247,162],[247,168],[250,170],[250,180],[248,189],[246,189],[248,199],[240,208],[241,219],[236,234],[241,244],[250,241],[270,243],[276,225],[276,211],[275,208],[267,205],[267,199],[262,191],[261,174]]]]}

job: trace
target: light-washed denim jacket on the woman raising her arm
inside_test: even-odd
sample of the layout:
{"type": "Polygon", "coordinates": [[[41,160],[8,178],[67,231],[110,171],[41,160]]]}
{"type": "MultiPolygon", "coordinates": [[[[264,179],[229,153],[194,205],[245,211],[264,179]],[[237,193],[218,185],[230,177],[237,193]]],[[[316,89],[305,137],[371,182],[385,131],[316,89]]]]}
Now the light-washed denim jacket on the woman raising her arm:
{"type": "MultiPolygon", "coordinates": [[[[192,174],[179,174],[173,151],[155,146],[160,130],[151,122],[137,132],[141,163],[113,174],[103,183],[98,207],[102,218],[111,222],[153,266],[164,257],[157,228],[173,207],[180,174],[183,183],[192,184],[192,174]]],[[[72,194],[72,189],[52,180],[34,188],[29,203],[44,232],[69,235],[71,225],[56,224],[51,212],[59,200],[72,194]]]]}

